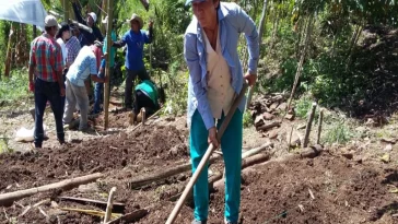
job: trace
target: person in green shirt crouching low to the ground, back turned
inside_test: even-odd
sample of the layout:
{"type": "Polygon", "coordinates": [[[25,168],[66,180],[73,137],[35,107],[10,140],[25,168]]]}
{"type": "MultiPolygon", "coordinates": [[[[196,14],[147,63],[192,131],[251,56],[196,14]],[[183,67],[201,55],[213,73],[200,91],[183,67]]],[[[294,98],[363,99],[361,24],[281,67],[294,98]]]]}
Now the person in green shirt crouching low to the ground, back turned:
{"type": "Polygon", "coordinates": [[[159,108],[159,90],[151,80],[144,80],[136,86],[136,101],[132,106],[130,116],[130,125],[137,120],[137,115],[141,108],[145,108],[145,116],[153,115],[159,108]]]}

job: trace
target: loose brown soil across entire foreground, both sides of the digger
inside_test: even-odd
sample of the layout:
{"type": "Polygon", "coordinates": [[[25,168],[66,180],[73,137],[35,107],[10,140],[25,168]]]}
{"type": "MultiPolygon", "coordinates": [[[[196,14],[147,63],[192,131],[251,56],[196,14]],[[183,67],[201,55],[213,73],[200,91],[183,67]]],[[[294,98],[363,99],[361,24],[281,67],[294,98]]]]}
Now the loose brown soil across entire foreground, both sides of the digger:
{"type": "MultiPolygon", "coordinates": [[[[50,202],[40,205],[49,219],[37,208],[17,217],[24,208],[16,203],[0,208],[0,211],[5,211],[9,217],[17,217],[19,223],[101,223],[101,217],[62,212],[57,207],[97,211],[104,211],[104,207],[65,201],[57,197],[106,201],[109,189],[117,187],[115,201],[126,207],[122,211],[115,208],[115,213],[148,208],[149,214],[137,223],[165,223],[175,205],[168,198],[184,189],[189,174],[141,189],[130,189],[127,180],[187,162],[186,139],[187,133],[174,127],[153,127],[152,130],[141,129],[130,134],[120,133],[59,149],[44,149],[35,155],[1,155],[1,192],[86,175],[94,168],[106,173],[107,177],[73,190],[39,193],[19,201],[17,204],[26,208],[51,199],[57,205],[50,202]],[[11,187],[7,189],[8,186],[11,187]]],[[[211,166],[212,170],[222,172],[219,165],[211,166]]],[[[397,217],[393,216],[398,212],[398,204],[396,196],[389,192],[390,185],[398,186],[398,174],[387,165],[355,162],[327,152],[312,160],[268,162],[243,172],[239,223],[398,223],[397,217]]],[[[8,223],[5,213],[0,212],[0,223],[8,223]]],[[[223,214],[224,190],[221,187],[210,196],[208,223],[222,224],[223,214]]],[[[192,208],[186,204],[175,223],[190,223],[191,220],[192,208]]]]}

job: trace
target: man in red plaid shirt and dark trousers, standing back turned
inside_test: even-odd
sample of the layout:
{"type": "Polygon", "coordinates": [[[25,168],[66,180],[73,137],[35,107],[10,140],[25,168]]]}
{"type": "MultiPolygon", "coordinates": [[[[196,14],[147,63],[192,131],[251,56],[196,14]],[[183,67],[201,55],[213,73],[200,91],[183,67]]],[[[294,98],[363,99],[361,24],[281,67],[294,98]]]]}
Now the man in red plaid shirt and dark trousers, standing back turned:
{"type": "Polygon", "coordinates": [[[62,69],[65,67],[61,46],[55,39],[58,22],[52,15],[45,19],[45,33],[35,38],[30,54],[30,91],[35,94],[35,148],[42,148],[44,140],[43,116],[47,101],[50,103],[56,119],[57,138],[65,143],[62,126],[65,83],[62,69]]]}

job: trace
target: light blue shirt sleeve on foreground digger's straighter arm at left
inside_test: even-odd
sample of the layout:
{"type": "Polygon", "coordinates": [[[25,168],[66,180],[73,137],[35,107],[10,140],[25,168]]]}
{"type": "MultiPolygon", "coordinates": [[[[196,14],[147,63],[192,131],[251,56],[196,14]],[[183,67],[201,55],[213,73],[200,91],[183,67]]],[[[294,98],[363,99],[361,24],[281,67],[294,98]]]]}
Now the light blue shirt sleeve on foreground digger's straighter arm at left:
{"type": "Polygon", "coordinates": [[[201,84],[201,68],[199,63],[199,55],[196,48],[196,35],[186,34],[184,38],[184,56],[188,64],[190,82],[194,87],[195,97],[198,101],[198,111],[201,115],[206,128],[209,130],[214,127],[214,118],[211,113],[210,104],[207,97],[207,90],[201,84]]]}

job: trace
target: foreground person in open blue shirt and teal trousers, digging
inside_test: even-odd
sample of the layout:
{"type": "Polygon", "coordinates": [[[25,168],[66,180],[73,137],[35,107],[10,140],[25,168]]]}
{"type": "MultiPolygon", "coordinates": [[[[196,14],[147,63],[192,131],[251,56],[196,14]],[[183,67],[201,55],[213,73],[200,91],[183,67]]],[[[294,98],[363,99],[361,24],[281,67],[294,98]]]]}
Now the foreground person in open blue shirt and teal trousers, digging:
{"type": "MultiPolygon", "coordinates": [[[[187,0],[195,16],[187,27],[184,56],[189,69],[188,127],[192,173],[204,155],[209,143],[221,143],[225,162],[225,223],[237,223],[241,205],[241,165],[243,139],[242,101],[234,113],[221,142],[220,128],[244,80],[249,85],[257,80],[259,58],[258,33],[254,21],[236,3],[220,0],[187,0]],[[244,33],[249,52],[248,71],[243,74],[237,54],[239,34],[244,33]],[[215,123],[216,120],[216,123],[215,123]]],[[[209,210],[208,168],[194,186],[195,220],[206,224],[209,210]]]]}

